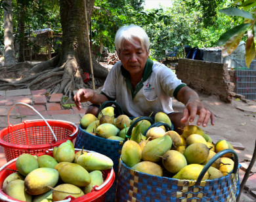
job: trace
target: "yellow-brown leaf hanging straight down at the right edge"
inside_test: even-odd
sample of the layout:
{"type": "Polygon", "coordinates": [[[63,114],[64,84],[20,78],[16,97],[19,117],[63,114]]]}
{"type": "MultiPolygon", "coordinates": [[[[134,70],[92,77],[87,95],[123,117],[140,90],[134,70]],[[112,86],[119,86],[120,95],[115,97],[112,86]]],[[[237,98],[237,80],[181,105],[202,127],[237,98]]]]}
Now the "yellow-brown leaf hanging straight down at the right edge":
{"type": "Polygon", "coordinates": [[[251,61],[255,58],[255,43],[253,40],[253,33],[247,31],[247,41],[245,46],[245,64],[249,68],[251,61]]]}

